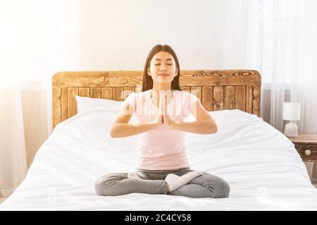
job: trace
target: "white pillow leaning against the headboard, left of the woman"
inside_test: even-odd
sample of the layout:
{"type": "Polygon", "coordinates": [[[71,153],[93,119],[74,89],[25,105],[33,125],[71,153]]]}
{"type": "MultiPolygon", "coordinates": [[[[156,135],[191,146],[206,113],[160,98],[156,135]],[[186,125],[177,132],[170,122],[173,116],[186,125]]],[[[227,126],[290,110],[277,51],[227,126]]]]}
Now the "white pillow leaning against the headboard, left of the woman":
{"type": "Polygon", "coordinates": [[[111,99],[99,99],[92,97],[81,97],[75,95],[77,101],[77,113],[91,109],[106,109],[118,113],[123,102],[111,99]]]}

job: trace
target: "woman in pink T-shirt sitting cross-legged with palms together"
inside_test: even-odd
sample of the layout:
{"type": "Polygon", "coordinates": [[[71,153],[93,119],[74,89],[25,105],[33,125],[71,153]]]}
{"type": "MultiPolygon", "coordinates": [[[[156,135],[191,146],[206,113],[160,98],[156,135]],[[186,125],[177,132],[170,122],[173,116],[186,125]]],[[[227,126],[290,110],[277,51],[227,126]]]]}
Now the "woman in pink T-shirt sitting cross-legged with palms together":
{"type": "Polygon", "coordinates": [[[97,195],[228,197],[230,187],[222,178],[189,169],[186,132],[211,134],[217,126],[195,95],[180,90],[179,79],[173,49],[156,45],[144,66],[142,92],[132,92],[125,99],[110,132],[112,138],[139,134],[137,169],[101,176],[95,183],[97,195]],[[133,114],[137,123],[129,124],[133,114]],[[186,122],[190,114],[197,121],[186,122]]]}

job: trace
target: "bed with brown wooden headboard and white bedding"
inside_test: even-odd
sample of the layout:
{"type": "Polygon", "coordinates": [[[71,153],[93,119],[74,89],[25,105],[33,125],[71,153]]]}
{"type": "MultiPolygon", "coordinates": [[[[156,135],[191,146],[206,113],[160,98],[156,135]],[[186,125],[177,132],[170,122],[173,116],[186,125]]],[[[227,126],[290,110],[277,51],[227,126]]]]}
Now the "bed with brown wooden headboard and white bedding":
{"type": "Polygon", "coordinates": [[[108,133],[126,93],[141,84],[142,71],[56,73],[53,133],[0,210],[317,210],[317,189],[294,145],[259,117],[261,75],[251,70],[180,75],[182,90],[197,95],[218,124],[215,134],[186,134],[189,165],[228,181],[228,198],[96,195],[99,176],[135,169],[137,135],[108,133]],[[77,111],[76,95],[115,104],[77,111]]]}

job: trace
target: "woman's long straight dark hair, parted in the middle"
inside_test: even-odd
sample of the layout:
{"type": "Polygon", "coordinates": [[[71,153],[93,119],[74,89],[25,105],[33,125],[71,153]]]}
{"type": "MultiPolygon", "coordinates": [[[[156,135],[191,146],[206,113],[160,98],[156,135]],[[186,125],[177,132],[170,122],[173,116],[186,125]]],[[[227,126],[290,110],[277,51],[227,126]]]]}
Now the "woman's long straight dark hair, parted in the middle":
{"type": "Polygon", "coordinates": [[[157,44],[151,49],[149,55],[147,56],[147,61],[145,62],[144,71],[143,71],[143,80],[142,80],[142,92],[147,91],[153,87],[153,79],[151,76],[147,74],[147,68],[149,68],[149,64],[153,56],[159,51],[166,51],[170,53],[176,63],[176,68],[178,68],[178,75],[174,77],[171,84],[172,90],[181,90],[180,89],[180,63],[178,63],[178,56],[176,56],[175,51],[168,44],[157,44]]]}

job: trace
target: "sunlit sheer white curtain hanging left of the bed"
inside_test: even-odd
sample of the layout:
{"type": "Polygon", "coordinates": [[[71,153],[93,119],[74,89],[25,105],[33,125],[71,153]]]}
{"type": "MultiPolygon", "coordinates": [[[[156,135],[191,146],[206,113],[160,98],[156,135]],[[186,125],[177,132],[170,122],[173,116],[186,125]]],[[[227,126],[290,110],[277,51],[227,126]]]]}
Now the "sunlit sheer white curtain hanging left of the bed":
{"type": "Polygon", "coordinates": [[[20,185],[51,134],[51,77],[73,71],[77,59],[68,54],[78,46],[77,24],[67,22],[76,20],[75,4],[0,1],[0,197],[20,185]]]}

